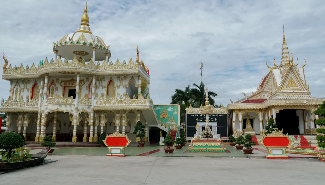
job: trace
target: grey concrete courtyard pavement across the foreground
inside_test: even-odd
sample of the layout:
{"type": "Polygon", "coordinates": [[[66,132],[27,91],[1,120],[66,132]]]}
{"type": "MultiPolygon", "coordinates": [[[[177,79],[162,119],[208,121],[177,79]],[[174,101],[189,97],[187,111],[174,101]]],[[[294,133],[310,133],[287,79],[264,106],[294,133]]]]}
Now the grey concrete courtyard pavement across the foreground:
{"type": "Polygon", "coordinates": [[[0,175],[1,184],[323,184],[325,163],[246,157],[49,155],[57,162],[0,175]]]}

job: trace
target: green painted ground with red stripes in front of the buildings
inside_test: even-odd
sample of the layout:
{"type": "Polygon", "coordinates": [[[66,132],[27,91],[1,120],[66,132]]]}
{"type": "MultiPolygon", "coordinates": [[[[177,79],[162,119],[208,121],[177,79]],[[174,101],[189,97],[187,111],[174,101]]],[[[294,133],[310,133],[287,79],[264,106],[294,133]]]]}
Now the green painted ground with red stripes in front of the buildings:
{"type": "MultiPolygon", "coordinates": [[[[249,154],[244,154],[242,150],[236,150],[233,146],[225,146],[226,150],[230,153],[220,152],[220,153],[184,153],[188,146],[183,146],[183,149],[174,150],[172,154],[166,154],[162,146],[158,145],[146,145],[143,148],[140,147],[126,147],[125,154],[129,156],[135,156],[143,154],[146,152],[161,149],[161,151],[153,154],[144,154],[147,156],[192,156],[192,157],[245,157],[251,156],[249,154]]],[[[57,148],[52,153],[52,155],[106,155],[108,149],[107,147],[81,147],[81,148],[57,148]]]]}

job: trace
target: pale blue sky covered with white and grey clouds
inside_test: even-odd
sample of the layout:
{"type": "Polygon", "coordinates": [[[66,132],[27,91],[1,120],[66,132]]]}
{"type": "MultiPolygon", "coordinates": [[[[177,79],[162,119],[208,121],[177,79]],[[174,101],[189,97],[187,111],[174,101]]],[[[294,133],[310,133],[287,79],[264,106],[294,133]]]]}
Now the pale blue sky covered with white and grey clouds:
{"type": "MultiPolygon", "coordinates": [[[[111,60],[136,58],[150,69],[150,96],[169,104],[175,88],[202,81],[217,104],[255,91],[279,64],[282,23],[294,61],[307,60],[313,96],[325,98],[324,1],[87,1],[90,27],[111,48],[111,60]]],[[[52,58],[53,42],[80,25],[85,1],[0,1],[0,53],[12,66],[52,58]]],[[[2,75],[2,70],[1,70],[2,75]]],[[[1,81],[7,99],[9,82],[1,81]]]]}

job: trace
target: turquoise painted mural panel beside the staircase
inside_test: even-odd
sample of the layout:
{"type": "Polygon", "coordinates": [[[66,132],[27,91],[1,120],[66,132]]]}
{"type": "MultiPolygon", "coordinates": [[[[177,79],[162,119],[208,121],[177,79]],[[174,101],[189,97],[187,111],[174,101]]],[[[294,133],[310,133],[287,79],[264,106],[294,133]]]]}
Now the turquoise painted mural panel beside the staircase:
{"type": "Polygon", "coordinates": [[[179,125],[179,105],[154,105],[158,124],[179,125]]]}

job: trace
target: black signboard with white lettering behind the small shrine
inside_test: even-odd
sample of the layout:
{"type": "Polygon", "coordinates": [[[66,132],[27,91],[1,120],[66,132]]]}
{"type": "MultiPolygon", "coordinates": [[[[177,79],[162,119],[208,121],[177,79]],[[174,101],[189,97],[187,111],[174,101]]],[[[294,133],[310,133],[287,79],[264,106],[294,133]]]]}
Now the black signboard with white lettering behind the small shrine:
{"type": "MultiPolygon", "coordinates": [[[[205,122],[205,114],[186,114],[186,137],[195,135],[197,122],[205,122]]],[[[228,136],[227,114],[212,114],[209,116],[209,122],[217,123],[217,134],[221,137],[228,136]]]]}

